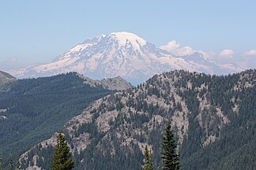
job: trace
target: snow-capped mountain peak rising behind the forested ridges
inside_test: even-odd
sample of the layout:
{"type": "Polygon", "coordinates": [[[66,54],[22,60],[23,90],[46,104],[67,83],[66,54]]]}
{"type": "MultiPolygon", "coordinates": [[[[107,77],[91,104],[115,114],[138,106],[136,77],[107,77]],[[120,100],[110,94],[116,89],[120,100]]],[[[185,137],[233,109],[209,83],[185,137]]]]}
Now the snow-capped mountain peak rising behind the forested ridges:
{"type": "Polygon", "coordinates": [[[17,78],[27,78],[78,72],[92,79],[121,76],[136,84],[149,76],[174,69],[211,74],[240,71],[234,65],[217,65],[199,53],[175,56],[133,33],[122,31],[87,39],[56,57],[51,63],[22,68],[11,73],[17,78]]]}

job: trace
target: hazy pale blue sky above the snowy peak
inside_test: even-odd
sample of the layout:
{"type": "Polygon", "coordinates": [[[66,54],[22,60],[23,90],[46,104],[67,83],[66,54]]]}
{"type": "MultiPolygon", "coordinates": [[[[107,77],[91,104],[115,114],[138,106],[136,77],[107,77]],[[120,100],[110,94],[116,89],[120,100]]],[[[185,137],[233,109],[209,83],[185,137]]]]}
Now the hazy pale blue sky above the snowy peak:
{"type": "Polygon", "coordinates": [[[255,55],[250,60],[256,61],[255,9],[255,0],[1,0],[0,67],[49,62],[113,31],[133,32],[156,46],[175,40],[214,56],[255,55]]]}

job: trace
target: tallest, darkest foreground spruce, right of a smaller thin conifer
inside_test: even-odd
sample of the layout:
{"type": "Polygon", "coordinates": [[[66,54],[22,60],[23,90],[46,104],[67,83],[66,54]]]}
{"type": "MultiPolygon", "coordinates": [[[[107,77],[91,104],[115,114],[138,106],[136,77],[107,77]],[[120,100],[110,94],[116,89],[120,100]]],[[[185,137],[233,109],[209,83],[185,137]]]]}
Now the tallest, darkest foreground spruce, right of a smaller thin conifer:
{"type": "Polygon", "coordinates": [[[175,170],[179,169],[179,156],[176,152],[176,143],[171,130],[171,124],[165,128],[164,136],[161,142],[161,158],[163,161],[162,169],[175,170]]]}

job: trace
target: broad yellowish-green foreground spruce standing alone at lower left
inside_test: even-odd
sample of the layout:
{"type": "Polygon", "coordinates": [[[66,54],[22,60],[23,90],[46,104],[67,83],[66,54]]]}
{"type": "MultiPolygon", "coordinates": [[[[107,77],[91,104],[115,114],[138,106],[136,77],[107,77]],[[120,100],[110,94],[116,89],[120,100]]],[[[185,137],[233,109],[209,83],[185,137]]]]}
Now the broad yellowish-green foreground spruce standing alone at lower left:
{"type": "Polygon", "coordinates": [[[52,160],[52,170],[70,170],[74,167],[70,154],[70,147],[66,143],[65,135],[59,133],[57,145],[55,146],[54,158],[52,160]]]}

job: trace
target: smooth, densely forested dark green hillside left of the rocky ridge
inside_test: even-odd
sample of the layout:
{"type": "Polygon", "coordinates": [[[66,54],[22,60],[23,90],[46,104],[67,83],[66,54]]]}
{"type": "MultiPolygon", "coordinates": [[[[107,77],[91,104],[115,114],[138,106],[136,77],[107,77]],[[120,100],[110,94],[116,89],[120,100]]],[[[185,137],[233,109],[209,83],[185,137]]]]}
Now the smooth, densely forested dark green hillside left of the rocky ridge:
{"type": "Polygon", "coordinates": [[[17,79],[0,91],[0,153],[13,160],[62,129],[91,102],[113,91],[89,86],[76,73],[17,79]]]}

